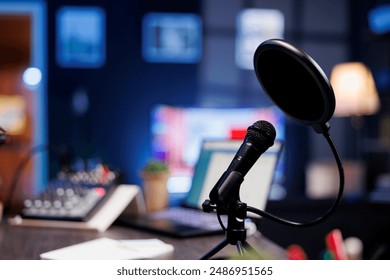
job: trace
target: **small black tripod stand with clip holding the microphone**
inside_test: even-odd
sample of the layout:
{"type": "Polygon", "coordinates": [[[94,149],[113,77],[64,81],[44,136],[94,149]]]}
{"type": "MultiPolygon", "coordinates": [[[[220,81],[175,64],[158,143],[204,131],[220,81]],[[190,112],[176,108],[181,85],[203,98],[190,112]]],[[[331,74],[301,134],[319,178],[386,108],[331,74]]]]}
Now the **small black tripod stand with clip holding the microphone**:
{"type": "MultiPolygon", "coordinates": [[[[260,255],[246,241],[245,218],[247,217],[247,204],[240,201],[239,190],[243,181],[243,176],[238,172],[229,174],[222,186],[218,187],[218,198],[216,203],[211,200],[205,200],[203,203],[204,212],[217,210],[218,214],[227,214],[227,228],[225,230],[225,239],[203,255],[200,259],[207,260],[222,250],[227,245],[235,245],[240,256],[245,253],[260,255]]],[[[211,195],[212,196],[212,195],[211,195]]],[[[222,224],[221,224],[222,225],[222,224]]]]}

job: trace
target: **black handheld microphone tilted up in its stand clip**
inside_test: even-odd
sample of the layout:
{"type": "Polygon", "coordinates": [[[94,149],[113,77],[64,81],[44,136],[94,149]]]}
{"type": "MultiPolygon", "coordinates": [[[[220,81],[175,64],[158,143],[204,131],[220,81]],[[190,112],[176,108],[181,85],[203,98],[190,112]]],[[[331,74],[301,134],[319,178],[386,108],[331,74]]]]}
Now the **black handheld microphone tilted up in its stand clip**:
{"type": "MultiPolygon", "coordinates": [[[[257,121],[249,126],[244,142],[227,170],[211,190],[209,202],[216,204],[219,208],[229,208],[230,203],[239,200],[239,187],[244,176],[257,159],[274,144],[275,137],[275,128],[267,121],[257,121]]],[[[207,209],[207,206],[206,209],[204,207],[204,210],[211,211],[211,209],[207,209]]]]}

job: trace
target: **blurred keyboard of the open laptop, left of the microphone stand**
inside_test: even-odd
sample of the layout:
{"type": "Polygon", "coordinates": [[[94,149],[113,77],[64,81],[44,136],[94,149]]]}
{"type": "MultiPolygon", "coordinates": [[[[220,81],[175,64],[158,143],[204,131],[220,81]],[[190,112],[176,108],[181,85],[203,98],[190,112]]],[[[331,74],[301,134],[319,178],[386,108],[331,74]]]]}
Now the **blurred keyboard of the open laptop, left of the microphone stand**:
{"type": "MultiPolygon", "coordinates": [[[[200,227],[208,230],[221,229],[216,213],[206,213],[199,209],[172,207],[148,215],[152,219],[166,219],[192,227],[200,227]]],[[[226,225],[227,217],[221,216],[221,219],[226,225]]]]}

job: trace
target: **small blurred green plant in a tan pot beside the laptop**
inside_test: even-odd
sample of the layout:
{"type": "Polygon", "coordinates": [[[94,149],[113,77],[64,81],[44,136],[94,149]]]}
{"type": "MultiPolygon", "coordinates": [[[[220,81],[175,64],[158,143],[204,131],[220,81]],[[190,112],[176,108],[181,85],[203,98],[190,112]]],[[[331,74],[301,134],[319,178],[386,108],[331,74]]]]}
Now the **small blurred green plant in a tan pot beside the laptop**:
{"type": "Polygon", "coordinates": [[[153,212],[166,208],[168,206],[168,165],[161,160],[153,159],[143,167],[141,177],[147,211],[153,212]]]}

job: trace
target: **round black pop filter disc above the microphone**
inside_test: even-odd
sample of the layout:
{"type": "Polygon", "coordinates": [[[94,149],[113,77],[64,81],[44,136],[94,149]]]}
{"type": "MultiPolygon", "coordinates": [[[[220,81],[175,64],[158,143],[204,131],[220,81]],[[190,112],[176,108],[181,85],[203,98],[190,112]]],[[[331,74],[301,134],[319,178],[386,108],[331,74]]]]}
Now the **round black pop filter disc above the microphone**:
{"type": "Polygon", "coordinates": [[[329,129],[333,89],[309,55],[283,40],[267,40],[255,52],[254,68],[266,94],[286,115],[319,133],[329,129]]]}

